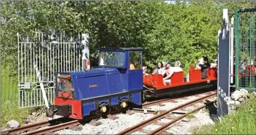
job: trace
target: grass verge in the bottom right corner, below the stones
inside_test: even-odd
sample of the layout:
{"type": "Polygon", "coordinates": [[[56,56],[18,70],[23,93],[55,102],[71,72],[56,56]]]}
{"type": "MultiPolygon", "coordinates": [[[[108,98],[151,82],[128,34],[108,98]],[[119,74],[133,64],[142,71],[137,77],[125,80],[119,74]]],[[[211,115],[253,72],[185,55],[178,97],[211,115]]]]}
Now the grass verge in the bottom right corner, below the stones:
{"type": "Polygon", "coordinates": [[[203,126],[194,134],[256,134],[256,98],[247,100],[214,126],[203,126]]]}

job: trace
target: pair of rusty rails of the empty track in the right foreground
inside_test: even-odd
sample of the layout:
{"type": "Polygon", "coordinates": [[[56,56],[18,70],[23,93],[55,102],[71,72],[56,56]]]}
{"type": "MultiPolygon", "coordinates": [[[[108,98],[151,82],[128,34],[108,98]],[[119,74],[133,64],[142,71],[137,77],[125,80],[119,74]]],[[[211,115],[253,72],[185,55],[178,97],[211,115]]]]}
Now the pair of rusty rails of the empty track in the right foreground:
{"type": "MultiPolygon", "coordinates": [[[[165,111],[165,112],[162,112],[162,113],[160,113],[158,115],[155,115],[155,117],[152,117],[150,119],[147,119],[145,121],[140,122],[139,124],[137,124],[135,126],[132,126],[132,127],[128,128],[128,129],[125,129],[124,131],[121,131],[118,134],[132,134],[135,131],[141,131],[143,129],[143,127],[148,126],[149,124],[153,124],[153,123],[155,123],[156,121],[158,121],[160,119],[168,117],[168,114],[170,114],[171,112],[173,112],[175,110],[183,109],[185,107],[191,106],[191,105],[196,104],[198,102],[202,102],[204,99],[209,99],[211,97],[215,97],[216,95],[217,95],[216,92],[213,93],[213,94],[209,93],[208,95],[206,95],[204,97],[200,97],[198,99],[194,99],[193,101],[187,102],[185,104],[181,104],[178,107],[175,107],[173,109],[169,109],[168,111],[165,111]]],[[[187,112],[187,113],[185,113],[185,114],[183,114],[183,115],[181,115],[179,117],[176,117],[176,118],[172,119],[170,122],[160,125],[160,127],[158,129],[150,131],[148,134],[160,134],[160,133],[163,133],[163,132],[165,132],[165,130],[170,128],[171,124],[175,123],[176,121],[179,121],[180,119],[182,119],[183,117],[187,116],[188,114],[190,114],[192,112],[195,112],[198,109],[201,109],[201,108],[203,108],[205,106],[206,106],[206,104],[204,104],[204,105],[202,105],[200,107],[197,107],[196,109],[193,109],[193,110],[191,110],[191,111],[189,111],[189,112],[187,112]]]]}

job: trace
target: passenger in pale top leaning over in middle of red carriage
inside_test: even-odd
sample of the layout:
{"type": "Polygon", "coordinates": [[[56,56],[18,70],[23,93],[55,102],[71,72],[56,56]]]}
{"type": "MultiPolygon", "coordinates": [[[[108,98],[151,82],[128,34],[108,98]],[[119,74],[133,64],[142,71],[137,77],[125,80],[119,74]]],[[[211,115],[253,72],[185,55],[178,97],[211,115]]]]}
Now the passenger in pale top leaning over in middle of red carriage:
{"type": "Polygon", "coordinates": [[[180,61],[175,61],[174,67],[170,67],[170,62],[166,62],[166,70],[165,74],[167,75],[166,77],[163,78],[163,85],[170,85],[170,77],[172,77],[174,72],[181,72],[183,71],[182,68],[180,68],[180,61]]]}

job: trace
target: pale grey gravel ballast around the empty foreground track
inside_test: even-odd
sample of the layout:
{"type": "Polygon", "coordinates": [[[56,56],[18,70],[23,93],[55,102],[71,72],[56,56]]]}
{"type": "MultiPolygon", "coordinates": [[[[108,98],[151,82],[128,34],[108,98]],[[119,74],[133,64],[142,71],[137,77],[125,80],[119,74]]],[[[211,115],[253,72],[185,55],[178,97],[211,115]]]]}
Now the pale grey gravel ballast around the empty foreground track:
{"type": "MultiPolygon", "coordinates": [[[[201,95],[203,96],[203,95],[201,95]]],[[[154,105],[150,108],[152,110],[168,110],[174,107],[178,107],[180,104],[184,104],[185,102],[192,101],[193,99],[197,99],[198,97],[190,96],[187,99],[175,99],[177,102],[165,102],[165,106],[154,105]]],[[[195,118],[190,119],[189,122],[180,122],[177,126],[173,126],[168,131],[173,134],[190,134],[190,129],[194,129],[194,126],[200,126],[203,124],[209,124],[210,117],[202,112],[198,112],[195,114],[195,118]],[[199,113],[199,114],[198,114],[199,113]]],[[[176,117],[180,116],[180,114],[173,114],[177,115],[176,117]]],[[[140,123],[140,121],[144,121],[146,119],[150,119],[153,117],[153,114],[143,114],[143,113],[134,113],[134,114],[116,114],[118,119],[99,119],[102,124],[98,126],[94,126],[92,124],[84,124],[81,125],[81,129],[79,131],[74,131],[71,129],[63,129],[61,131],[56,131],[58,134],[118,134],[120,131],[127,129],[130,126],[134,126],[135,124],[140,123]]],[[[160,119],[158,122],[167,123],[170,119],[160,119]]],[[[159,125],[150,124],[145,126],[144,130],[153,130],[157,129],[159,125]]],[[[140,131],[136,131],[133,134],[146,134],[140,131]]]]}

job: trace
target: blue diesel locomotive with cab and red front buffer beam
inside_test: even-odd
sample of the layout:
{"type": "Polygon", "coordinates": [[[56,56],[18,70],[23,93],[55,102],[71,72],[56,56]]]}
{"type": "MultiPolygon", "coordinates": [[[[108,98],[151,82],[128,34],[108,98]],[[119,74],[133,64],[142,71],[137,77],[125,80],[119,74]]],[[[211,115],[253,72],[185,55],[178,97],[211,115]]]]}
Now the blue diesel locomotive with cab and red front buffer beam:
{"type": "Polygon", "coordinates": [[[83,119],[142,104],[142,48],[99,48],[98,68],[58,72],[54,107],[58,115],[83,119]]]}

